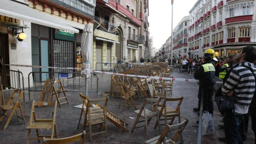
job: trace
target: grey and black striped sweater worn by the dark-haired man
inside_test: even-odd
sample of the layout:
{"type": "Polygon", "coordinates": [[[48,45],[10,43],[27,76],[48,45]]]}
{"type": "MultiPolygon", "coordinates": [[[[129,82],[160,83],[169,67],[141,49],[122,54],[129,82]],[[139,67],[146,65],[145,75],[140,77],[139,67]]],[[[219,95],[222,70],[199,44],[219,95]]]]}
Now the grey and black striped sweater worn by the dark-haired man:
{"type": "Polygon", "coordinates": [[[256,74],[256,66],[254,64],[248,62],[240,63],[230,72],[230,76],[221,90],[223,95],[227,95],[231,90],[234,90],[236,98],[234,112],[246,114],[255,92],[255,78],[253,73],[243,65],[251,67],[256,74]]]}

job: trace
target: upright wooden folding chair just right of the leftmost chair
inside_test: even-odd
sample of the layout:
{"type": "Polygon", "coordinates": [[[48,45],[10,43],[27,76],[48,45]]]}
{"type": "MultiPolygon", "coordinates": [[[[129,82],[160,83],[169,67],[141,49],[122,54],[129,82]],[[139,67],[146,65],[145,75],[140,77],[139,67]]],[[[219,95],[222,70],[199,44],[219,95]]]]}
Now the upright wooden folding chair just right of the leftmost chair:
{"type": "Polygon", "coordinates": [[[33,101],[32,107],[31,107],[31,113],[30,113],[30,119],[29,119],[29,126],[26,127],[28,130],[28,136],[27,136],[27,144],[29,144],[29,140],[38,140],[40,142],[40,139],[43,137],[50,137],[50,138],[58,138],[57,134],[57,127],[56,127],[56,109],[57,109],[57,101],[55,102],[35,102],[33,101]],[[54,106],[54,111],[52,112],[52,119],[38,119],[36,118],[36,113],[34,111],[35,106],[54,106]],[[34,118],[34,122],[33,122],[34,118]],[[37,137],[30,137],[31,129],[36,130],[37,137]],[[39,129],[51,129],[51,135],[45,136],[45,135],[39,135],[39,129]],[[55,135],[55,136],[54,136],[55,135]]]}

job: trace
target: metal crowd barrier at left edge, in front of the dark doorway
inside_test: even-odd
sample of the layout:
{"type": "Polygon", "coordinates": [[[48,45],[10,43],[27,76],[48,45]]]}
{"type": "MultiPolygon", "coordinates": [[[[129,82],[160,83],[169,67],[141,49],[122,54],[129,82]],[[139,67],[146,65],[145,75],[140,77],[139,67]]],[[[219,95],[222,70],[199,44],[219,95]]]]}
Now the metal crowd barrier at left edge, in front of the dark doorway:
{"type": "Polygon", "coordinates": [[[24,77],[23,73],[19,70],[6,70],[0,69],[1,71],[1,83],[3,87],[23,90],[23,101],[25,101],[24,91],[24,77]]]}

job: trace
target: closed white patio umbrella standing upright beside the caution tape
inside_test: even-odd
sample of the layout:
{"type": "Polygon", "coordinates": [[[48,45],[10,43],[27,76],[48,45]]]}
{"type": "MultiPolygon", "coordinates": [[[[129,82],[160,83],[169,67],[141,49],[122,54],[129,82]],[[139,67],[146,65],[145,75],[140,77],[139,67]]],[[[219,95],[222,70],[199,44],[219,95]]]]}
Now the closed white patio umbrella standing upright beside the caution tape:
{"type": "Polygon", "coordinates": [[[82,75],[86,75],[86,78],[90,77],[90,55],[92,46],[92,29],[89,24],[85,25],[81,38],[81,54],[83,57],[83,70],[82,75]]]}

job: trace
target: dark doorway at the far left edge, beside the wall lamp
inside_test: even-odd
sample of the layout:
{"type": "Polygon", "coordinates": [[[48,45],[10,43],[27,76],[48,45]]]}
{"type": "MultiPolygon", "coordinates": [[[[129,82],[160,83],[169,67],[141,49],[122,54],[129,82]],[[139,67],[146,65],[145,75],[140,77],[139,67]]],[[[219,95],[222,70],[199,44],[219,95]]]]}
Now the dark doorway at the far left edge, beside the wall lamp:
{"type": "MultiPolygon", "coordinates": [[[[0,34],[0,58],[1,58],[1,69],[9,70],[9,49],[8,49],[8,35],[0,34]]],[[[1,82],[3,86],[10,86],[10,72],[6,70],[1,70],[1,82]]]]}

